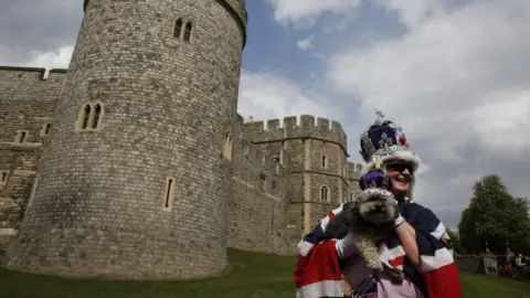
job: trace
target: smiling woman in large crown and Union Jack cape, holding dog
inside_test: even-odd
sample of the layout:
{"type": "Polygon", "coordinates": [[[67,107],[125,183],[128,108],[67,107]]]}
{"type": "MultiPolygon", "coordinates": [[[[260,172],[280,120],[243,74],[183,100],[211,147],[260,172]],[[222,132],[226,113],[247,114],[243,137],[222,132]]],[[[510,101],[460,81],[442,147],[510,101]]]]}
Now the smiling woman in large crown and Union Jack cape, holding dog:
{"type": "Polygon", "coordinates": [[[412,200],[414,173],[420,158],[409,150],[400,126],[378,119],[361,135],[361,155],[368,162],[360,187],[381,187],[381,179],[394,199],[394,230],[381,244],[382,263],[403,270],[403,283],[392,283],[385,274],[373,272],[360,258],[352,235],[329,240],[326,224],[342,205],[320,221],[298,244],[295,283],[298,298],[343,297],[342,276],[351,287],[346,297],[459,298],[458,272],[449,249],[444,224],[434,213],[412,200]]]}

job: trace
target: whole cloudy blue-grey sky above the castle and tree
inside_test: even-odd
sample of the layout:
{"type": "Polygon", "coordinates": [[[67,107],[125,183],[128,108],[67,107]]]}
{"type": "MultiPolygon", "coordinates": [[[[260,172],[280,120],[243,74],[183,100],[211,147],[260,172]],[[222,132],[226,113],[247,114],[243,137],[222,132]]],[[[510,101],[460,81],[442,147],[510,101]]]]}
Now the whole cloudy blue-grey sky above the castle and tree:
{"type": "MultiPolygon", "coordinates": [[[[488,173],[530,196],[530,1],[247,0],[239,110],[339,120],[352,161],[373,109],[424,164],[416,199],[456,226],[488,173]]],[[[0,3],[0,64],[67,67],[82,1],[0,3]]]]}

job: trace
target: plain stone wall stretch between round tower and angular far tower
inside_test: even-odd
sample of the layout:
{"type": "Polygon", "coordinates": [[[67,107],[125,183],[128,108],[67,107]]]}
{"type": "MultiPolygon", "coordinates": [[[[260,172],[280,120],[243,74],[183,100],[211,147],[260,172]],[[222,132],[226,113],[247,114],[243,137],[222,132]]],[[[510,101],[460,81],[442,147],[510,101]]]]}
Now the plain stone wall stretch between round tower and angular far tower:
{"type": "Polygon", "coordinates": [[[243,138],[234,142],[233,162],[227,245],[285,254],[284,167],[243,138]]]}

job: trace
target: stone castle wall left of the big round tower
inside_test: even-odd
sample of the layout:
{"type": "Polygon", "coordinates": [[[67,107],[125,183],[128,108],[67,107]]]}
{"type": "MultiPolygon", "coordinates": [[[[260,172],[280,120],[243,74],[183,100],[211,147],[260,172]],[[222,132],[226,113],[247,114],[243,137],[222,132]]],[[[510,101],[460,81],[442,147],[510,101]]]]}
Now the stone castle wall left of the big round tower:
{"type": "Polygon", "coordinates": [[[30,201],[64,78],[64,70],[44,78],[43,68],[0,66],[0,245],[15,235],[30,201]]]}

